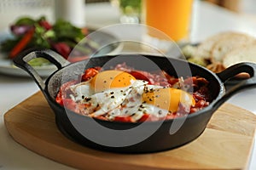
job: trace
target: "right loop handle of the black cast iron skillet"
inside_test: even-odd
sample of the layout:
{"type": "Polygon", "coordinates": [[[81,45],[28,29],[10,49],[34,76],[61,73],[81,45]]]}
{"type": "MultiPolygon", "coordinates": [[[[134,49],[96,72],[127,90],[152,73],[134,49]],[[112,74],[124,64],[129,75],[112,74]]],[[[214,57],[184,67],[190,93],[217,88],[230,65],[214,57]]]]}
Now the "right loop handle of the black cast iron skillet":
{"type": "Polygon", "coordinates": [[[230,88],[224,96],[216,101],[216,103],[213,105],[214,109],[217,109],[220,105],[224,103],[227,99],[230,99],[230,97],[241,90],[248,89],[248,88],[256,88],[256,64],[249,63],[249,62],[243,62],[236,65],[232,65],[226,70],[217,73],[217,76],[220,78],[222,82],[226,82],[232,77],[235,77],[237,74],[241,72],[247,72],[250,75],[250,78],[246,80],[241,80],[241,82],[234,85],[232,88],[230,88]]]}

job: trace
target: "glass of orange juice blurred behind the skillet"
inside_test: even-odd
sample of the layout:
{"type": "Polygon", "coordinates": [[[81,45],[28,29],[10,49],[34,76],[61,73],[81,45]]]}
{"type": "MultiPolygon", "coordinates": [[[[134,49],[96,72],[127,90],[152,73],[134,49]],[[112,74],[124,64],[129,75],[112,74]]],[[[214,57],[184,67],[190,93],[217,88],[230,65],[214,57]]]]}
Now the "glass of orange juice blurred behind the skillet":
{"type": "MultiPolygon", "coordinates": [[[[145,22],[179,42],[189,37],[193,0],[145,0],[145,22]]],[[[154,33],[148,32],[152,37],[154,33]]]]}

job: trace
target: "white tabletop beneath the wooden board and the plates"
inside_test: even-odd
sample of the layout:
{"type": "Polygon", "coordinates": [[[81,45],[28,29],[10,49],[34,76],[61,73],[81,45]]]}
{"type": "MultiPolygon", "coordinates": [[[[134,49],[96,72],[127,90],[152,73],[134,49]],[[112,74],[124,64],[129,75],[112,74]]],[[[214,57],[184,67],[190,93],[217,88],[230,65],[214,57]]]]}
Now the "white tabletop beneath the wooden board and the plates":
{"type": "MultiPolygon", "coordinates": [[[[102,27],[119,21],[119,11],[108,3],[91,4],[86,7],[88,26],[102,27]],[[102,15],[102,13],[104,15],[102,15]]],[[[201,42],[218,31],[243,31],[256,37],[256,22],[247,20],[239,14],[233,14],[223,8],[209,3],[195,3],[194,25],[191,34],[192,42],[201,42]]],[[[73,169],[44,156],[27,150],[17,144],[4,127],[3,115],[38,91],[31,78],[7,77],[0,75],[0,168],[1,169],[73,169]]],[[[252,111],[256,114],[256,89],[236,94],[228,100],[233,105],[252,111]]],[[[253,150],[250,169],[256,169],[256,150],[253,150]]]]}

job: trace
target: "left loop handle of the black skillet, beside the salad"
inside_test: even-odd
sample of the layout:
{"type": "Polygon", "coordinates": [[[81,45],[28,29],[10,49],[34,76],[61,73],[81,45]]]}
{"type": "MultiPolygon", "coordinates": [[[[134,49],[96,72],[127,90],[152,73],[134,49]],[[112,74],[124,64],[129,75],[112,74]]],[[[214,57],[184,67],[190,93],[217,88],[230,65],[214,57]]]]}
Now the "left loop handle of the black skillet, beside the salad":
{"type": "Polygon", "coordinates": [[[16,66],[20,67],[27,73],[29,73],[34,81],[38,84],[38,87],[44,92],[45,84],[43,79],[38,75],[38,72],[33,69],[31,65],[28,64],[28,62],[35,58],[44,58],[48,59],[50,63],[54,64],[58,70],[63,68],[64,66],[70,64],[66,59],[64,59],[60,54],[55,53],[54,51],[50,49],[44,49],[44,50],[37,50],[32,51],[30,53],[26,54],[20,54],[19,56],[15,57],[14,63],[16,66]]]}

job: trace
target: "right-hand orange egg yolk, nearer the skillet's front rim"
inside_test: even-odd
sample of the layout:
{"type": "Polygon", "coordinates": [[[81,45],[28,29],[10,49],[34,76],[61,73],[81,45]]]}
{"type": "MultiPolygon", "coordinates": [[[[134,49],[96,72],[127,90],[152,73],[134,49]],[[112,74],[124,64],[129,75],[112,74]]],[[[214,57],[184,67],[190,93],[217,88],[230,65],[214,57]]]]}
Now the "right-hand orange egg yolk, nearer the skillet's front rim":
{"type": "Polygon", "coordinates": [[[192,95],[177,88],[159,88],[145,92],[143,101],[172,113],[177,111],[179,103],[189,106],[195,105],[195,99],[192,95]]]}

